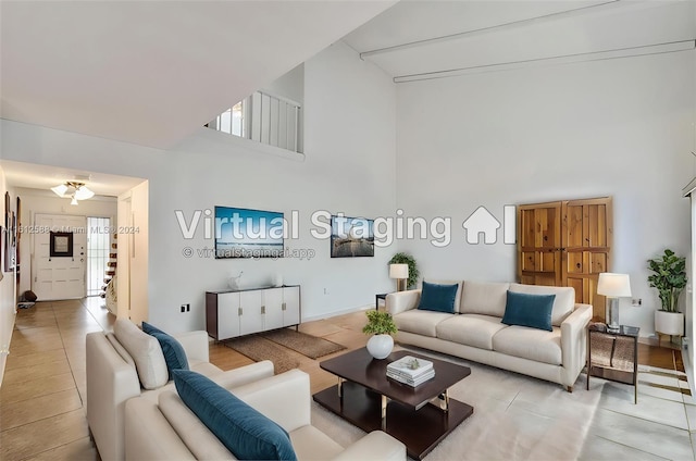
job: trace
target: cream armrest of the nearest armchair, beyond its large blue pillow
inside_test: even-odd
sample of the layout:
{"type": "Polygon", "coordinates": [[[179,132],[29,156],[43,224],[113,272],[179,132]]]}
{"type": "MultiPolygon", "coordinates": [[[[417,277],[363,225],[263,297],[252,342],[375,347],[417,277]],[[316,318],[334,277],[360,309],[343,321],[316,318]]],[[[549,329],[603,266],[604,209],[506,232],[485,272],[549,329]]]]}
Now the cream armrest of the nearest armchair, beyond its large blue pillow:
{"type": "Polygon", "coordinates": [[[231,393],[288,433],[311,424],[309,375],[300,370],[235,387],[231,393]]]}

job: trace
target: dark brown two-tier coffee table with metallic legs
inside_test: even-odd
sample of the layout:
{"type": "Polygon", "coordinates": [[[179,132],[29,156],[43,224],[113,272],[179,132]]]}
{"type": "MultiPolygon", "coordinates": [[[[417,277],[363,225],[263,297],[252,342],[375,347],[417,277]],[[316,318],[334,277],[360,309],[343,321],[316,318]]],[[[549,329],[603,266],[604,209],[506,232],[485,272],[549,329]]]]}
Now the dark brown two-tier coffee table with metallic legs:
{"type": "Polygon", "coordinates": [[[365,432],[386,432],[406,445],[411,458],[425,457],[474,412],[447,395],[449,387],[471,374],[468,366],[405,350],[376,360],[365,348],[320,366],[338,376],[338,384],[314,394],[314,401],[365,432]],[[387,364],[405,356],[433,362],[435,377],[417,387],[387,378],[387,364]]]}

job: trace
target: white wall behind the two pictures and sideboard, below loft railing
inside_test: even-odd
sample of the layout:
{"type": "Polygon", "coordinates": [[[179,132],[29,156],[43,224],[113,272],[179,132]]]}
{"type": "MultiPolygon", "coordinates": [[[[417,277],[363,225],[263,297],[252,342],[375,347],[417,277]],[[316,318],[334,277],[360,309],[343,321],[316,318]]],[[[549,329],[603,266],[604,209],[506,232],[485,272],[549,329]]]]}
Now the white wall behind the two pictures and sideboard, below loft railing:
{"type": "Polygon", "coordinates": [[[148,179],[149,320],[165,331],[203,328],[204,291],[225,288],[239,271],[247,286],[271,284],[277,273],[286,284],[300,284],[308,320],[372,304],[376,292],[393,286],[386,266],[393,249],[376,249],[375,258],[331,259],[328,240],[311,237],[309,219],[316,209],[368,217],[393,212],[396,89],[389,77],[339,42],[306,63],[304,107],[303,162],[220,138],[213,145],[194,137],[182,144],[185,148],[162,151],[9,121],[0,126],[0,154],[148,179]],[[216,204],[286,216],[297,210],[300,235],[286,240],[286,248],[311,249],[316,256],[309,261],[198,257],[196,251],[212,248],[213,241],[203,238],[202,229],[185,240],[174,211],[190,217],[216,204]],[[186,247],[195,250],[192,258],[183,256],[186,247]],[[191,311],[179,313],[182,303],[190,303],[191,311]]]}

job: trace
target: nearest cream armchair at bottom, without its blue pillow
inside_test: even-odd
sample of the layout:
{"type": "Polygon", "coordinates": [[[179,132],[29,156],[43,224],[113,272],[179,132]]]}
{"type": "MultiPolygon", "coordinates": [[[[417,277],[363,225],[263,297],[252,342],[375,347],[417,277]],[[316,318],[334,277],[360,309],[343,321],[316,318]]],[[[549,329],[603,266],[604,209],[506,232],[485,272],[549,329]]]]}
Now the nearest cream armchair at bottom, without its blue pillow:
{"type": "MultiPolygon", "coordinates": [[[[312,426],[309,375],[299,370],[235,387],[232,393],[283,427],[300,461],[406,460],[403,444],[382,431],[344,448],[312,426]]],[[[236,459],[176,391],[167,390],[158,397],[126,402],[126,460],[236,459]]]]}

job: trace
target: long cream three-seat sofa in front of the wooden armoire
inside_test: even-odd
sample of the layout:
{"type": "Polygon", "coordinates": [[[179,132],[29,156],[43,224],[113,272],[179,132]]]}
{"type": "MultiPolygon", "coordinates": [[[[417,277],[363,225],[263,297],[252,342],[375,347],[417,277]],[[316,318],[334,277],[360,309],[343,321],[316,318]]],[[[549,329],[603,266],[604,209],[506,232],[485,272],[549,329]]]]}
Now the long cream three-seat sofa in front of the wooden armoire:
{"type": "Polygon", "coordinates": [[[575,303],[572,287],[509,283],[459,284],[455,313],[417,309],[421,290],[387,295],[397,341],[561,384],[568,391],[585,365],[592,306],[575,303]],[[556,295],[552,332],[501,323],[507,291],[556,295]]]}

